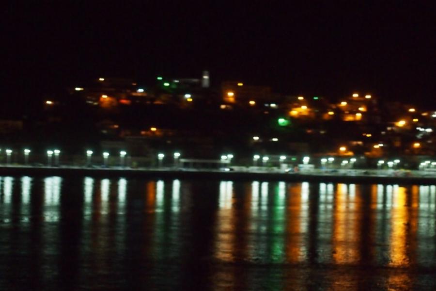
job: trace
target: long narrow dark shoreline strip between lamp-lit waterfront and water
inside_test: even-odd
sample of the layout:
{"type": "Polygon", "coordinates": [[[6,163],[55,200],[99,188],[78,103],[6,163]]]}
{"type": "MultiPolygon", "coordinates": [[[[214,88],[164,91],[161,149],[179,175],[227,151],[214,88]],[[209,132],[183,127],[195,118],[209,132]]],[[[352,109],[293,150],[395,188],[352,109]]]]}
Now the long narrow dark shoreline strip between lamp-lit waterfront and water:
{"type": "Polygon", "coordinates": [[[288,174],[279,172],[238,172],[191,169],[130,169],[130,168],[83,168],[83,167],[28,167],[0,166],[0,176],[91,176],[91,177],[132,177],[132,178],[178,178],[213,180],[259,180],[289,182],[326,182],[357,184],[420,184],[434,185],[436,177],[396,177],[383,175],[342,175],[323,173],[288,174]]]}

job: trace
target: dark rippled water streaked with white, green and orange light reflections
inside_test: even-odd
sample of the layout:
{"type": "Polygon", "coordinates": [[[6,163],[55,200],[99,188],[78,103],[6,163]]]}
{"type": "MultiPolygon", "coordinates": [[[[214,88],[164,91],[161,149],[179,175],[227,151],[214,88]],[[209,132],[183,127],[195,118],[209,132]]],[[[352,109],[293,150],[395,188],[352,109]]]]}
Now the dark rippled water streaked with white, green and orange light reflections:
{"type": "Polygon", "coordinates": [[[0,290],[435,290],[436,187],[0,178],[0,290]]]}

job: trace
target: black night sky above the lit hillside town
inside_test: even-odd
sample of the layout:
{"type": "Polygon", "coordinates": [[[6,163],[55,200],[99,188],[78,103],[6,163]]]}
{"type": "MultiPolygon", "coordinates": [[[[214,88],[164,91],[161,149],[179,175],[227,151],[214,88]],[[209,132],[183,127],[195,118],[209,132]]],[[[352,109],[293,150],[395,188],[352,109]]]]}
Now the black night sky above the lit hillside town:
{"type": "Polygon", "coordinates": [[[111,2],[4,7],[2,99],[99,76],[150,82],[208,69],[215,84],[241,80],[327,97],[357,90],[436,105],[432,1],[111,2]]]}

